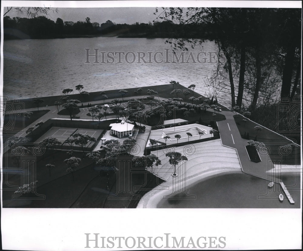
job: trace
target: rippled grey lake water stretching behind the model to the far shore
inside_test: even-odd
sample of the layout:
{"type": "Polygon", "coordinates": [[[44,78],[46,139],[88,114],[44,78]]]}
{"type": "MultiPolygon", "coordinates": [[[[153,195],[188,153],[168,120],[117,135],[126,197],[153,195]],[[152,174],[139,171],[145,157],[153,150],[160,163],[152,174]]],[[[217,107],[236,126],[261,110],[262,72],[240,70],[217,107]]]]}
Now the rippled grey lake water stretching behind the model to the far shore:
{"type": "MultiPolygon", "coordinates": [[[[211,56],[209,52],[217,50],[214,42],[206,41],[203,47],[189,48],[189,51],[184,54],[184,61],[187,61],[192,53],[196,63],[193,63],[193,60],[188,60],[189,63],[165,63],[165,61],[173,61],[173,54],[170,45],[165,44],[165,39],[162,38],[6,40],[3,47],[3,94],[10,98],[42,97],[60,95],[64,88],[72,88],[73,93],[76,93],[75,86],[78,84],[84,85],[83,91],[91,92],[168,84],[169,81],[175,80],[185,87],[195,84],[195,91],[205,95],[209,92],[205,85],[207,76],[209,77],[217,66],[217,63],[209,62],[211,56]],[[102,62],[100,52],[106,52],[105,61],[112,61],[107,57],[109,51],[134,52],[136,61],[128,63],[133,59],[133,54],[128,53],[128,62],[125,61],[125,56],[120,54],[121,63],[118,63],[118,54],[116,54],[113,63],[93,63],[94,57],[89,58],[91,63],[85,63],[85,48],[91,48],[89,54],[95,54],[93,48],[99,48],[98,61],[100,62],[102,62]],[[157,51],[160,53],[155,56],[157,51]],[[201,51],[206,52],[206,56],[203,53],[198,54],[201,51]],[[146,54],[143,59],[147,63],[143,63],[143,60],[138,63],[138,52],[146,54]],[[168,60],[166,60],[166,54],[169,56],[168,60]],[[151,55],[151,60],[149,60],[149,55],[151,55]],[[206,62],[199,63],[197,55],[200,62],[204,61],[203,58],[206,58],[206,62]],[[163,60],[164,62],[156,63],[154,56],[156,61],[163,60]]],[[[176,51],[176,53],[179,57],[181,51],[176,51]]],[[[140,54],[140,56],[143,55],[140,54]]],[[[228,80],[226,87],[218,96],[218,101],[230,106],[228,80]]]]}

